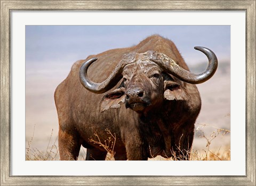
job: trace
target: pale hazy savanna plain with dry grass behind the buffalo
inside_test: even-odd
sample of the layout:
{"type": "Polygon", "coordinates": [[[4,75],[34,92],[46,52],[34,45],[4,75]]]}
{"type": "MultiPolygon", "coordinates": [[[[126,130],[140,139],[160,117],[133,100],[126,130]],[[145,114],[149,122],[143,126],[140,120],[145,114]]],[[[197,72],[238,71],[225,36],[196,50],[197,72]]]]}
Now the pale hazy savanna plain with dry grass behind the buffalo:
{"type": "MultiPolygon", "coordinates": [[[[61,71],[58,64],[55,65],[50,71],[42,68],[26,72],[26,160],[60,160],[58,115],[53,95],[68,71],[61,71]]],[[[189,68],[197,73],[203,71],[206,65],[204,62],[189,68]]],[[[187,160],[230,160],[230,62],[219,62],[214,76],[198,84],[197,88],[202,109],[195,123],[193,147],[187,160]]],[[[109,137],[106,142],[92,142],[105,147],[108,151],[106,160],[114,160],[115,134],[110,131],[109,137]]],[[[84,160],[85,155],[86,149],[81,147],[78,160],[84,160]]],[[[169,159],[157,156],[149,160],[179,158],[175,155],[169,159]]]]}

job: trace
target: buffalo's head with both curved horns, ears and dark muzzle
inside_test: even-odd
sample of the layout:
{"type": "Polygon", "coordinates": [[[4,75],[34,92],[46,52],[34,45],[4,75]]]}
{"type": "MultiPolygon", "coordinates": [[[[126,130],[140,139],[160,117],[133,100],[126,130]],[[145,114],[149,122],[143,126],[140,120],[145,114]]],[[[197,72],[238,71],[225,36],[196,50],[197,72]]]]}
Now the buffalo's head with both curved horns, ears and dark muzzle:
{"type": "Polygon", "coordinates": [[[203,52],[208,60],[207,69],[194,74],[182,69],[168,56],[148,51],[146,53],[130,53],[123,57],[115,70],[102,83],[92,82],[87,77],[88,67],[97,60],[92,58],[86,61],[80,69],[79,79],[83,86],[96,94],[102,94],[116,86],[123,79],[121,85],[103,97],[101,111],[120,107],[125,103],[126,108],[135,112],[145,112],[151,108],[157,109],[164,99],[187,100],[189,95],[182,86],[182,81],[188,83],[202,83],[212,77],[217,70],[218,60],[208,48],[195,47],[203,52]],[[173,77],[172,77],[173,75],[173,77]]]}

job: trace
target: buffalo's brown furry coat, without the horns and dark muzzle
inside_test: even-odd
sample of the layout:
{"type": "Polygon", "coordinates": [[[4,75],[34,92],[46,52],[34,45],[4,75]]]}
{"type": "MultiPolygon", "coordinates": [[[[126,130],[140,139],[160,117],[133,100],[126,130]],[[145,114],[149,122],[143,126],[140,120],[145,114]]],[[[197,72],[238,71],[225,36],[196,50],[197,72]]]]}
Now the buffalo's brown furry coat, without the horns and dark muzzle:
{"type": "MultiPolygon", "coordinates": [[[[89,77],[94,82],[102,82],[115,69],[124,54],[145,53],[148,50],[163,53],[183,69],[188,70],[172,41],[154,35],[141,41],[137,46],[111,49],[87,57],[86,60],[92,57],[98,58],[98,61],[89,67],[89,77]]],[[[161,77],[158,77],[157,80],[154,78],[151,80],[147,75],[139,73],[141,68],[138,65],[130,64],[125,67],[125,74],[123,74],[124,77],[129,78],[129,82],[126,84],[124,82],[124,86],[122,86],[121,80],[105,94],[93,94],[82,86],[78,78],[79,67],[86,60],[77,61],[68,77],[55,90],[61,160],[77,159],[81,145],[87,148],[87,160],[105,159],[105,150],[99,145],[89,142],[89,139],[97,140],[94,136],[95,133],[98,134],[101,141],[108,139],[109,135],[106,133],[106,129],[116,134],[114,151],[115,159],[118,160],[127,158],[129,160],[147,160],[148,157],[157,155],[171,157],[173,151],[179,155],[182,151],[191,148],[194,123],[201,109],[201,99],[194,84],[182,82],[164,72],[160,72],[161,77]],[[134,74],[137,75],[132,78],[134,74]],[[150,99],[151,106],[143,111],[135,112],[131,108],[125,107],[125,105],[127,106],[125,95],[115,97],[118,100],[114,100],[114,98],[114,101],[109,100],[108,97],[114,95],[111,92],[116,91],[120,84],[121,89],[134,86],[143,88],[150,99]],[[116,105],[117,103],[119,106],[116,105]],[[116,108],[111,108],[113,104],[116,108]],[[102,110],[102,107],[105,109],[102,110]],[[182,151],[178,150],[178,147],[182,151]]],[[[159,69],[157,65],[155,66],[159,69]]]]}

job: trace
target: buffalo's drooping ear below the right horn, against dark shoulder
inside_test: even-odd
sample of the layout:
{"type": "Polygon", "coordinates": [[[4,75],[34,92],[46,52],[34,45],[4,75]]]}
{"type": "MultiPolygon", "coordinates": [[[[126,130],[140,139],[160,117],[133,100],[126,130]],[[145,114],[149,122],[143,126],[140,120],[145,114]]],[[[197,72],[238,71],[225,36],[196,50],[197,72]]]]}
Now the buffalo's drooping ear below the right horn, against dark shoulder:
{"type": "Polygon", "coordinates": [[[167,100],[187,101],[190,99],[185,88],[175,81],[164,81],[164,90],[164,98],[167,100]]]}

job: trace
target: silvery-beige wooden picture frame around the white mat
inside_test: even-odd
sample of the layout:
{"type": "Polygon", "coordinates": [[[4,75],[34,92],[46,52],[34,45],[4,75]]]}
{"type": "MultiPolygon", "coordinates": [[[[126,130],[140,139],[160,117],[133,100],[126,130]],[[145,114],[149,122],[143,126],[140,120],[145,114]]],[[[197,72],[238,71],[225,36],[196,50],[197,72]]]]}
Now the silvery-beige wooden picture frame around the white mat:
{"type": "Polygon", "coordinates": [[[1,1],[1,185],[255,185],[255,1],[1,1]],[[245,176],[11,176],[10,12],[12,10],[244,10],[246,12],[245,176]]]}

